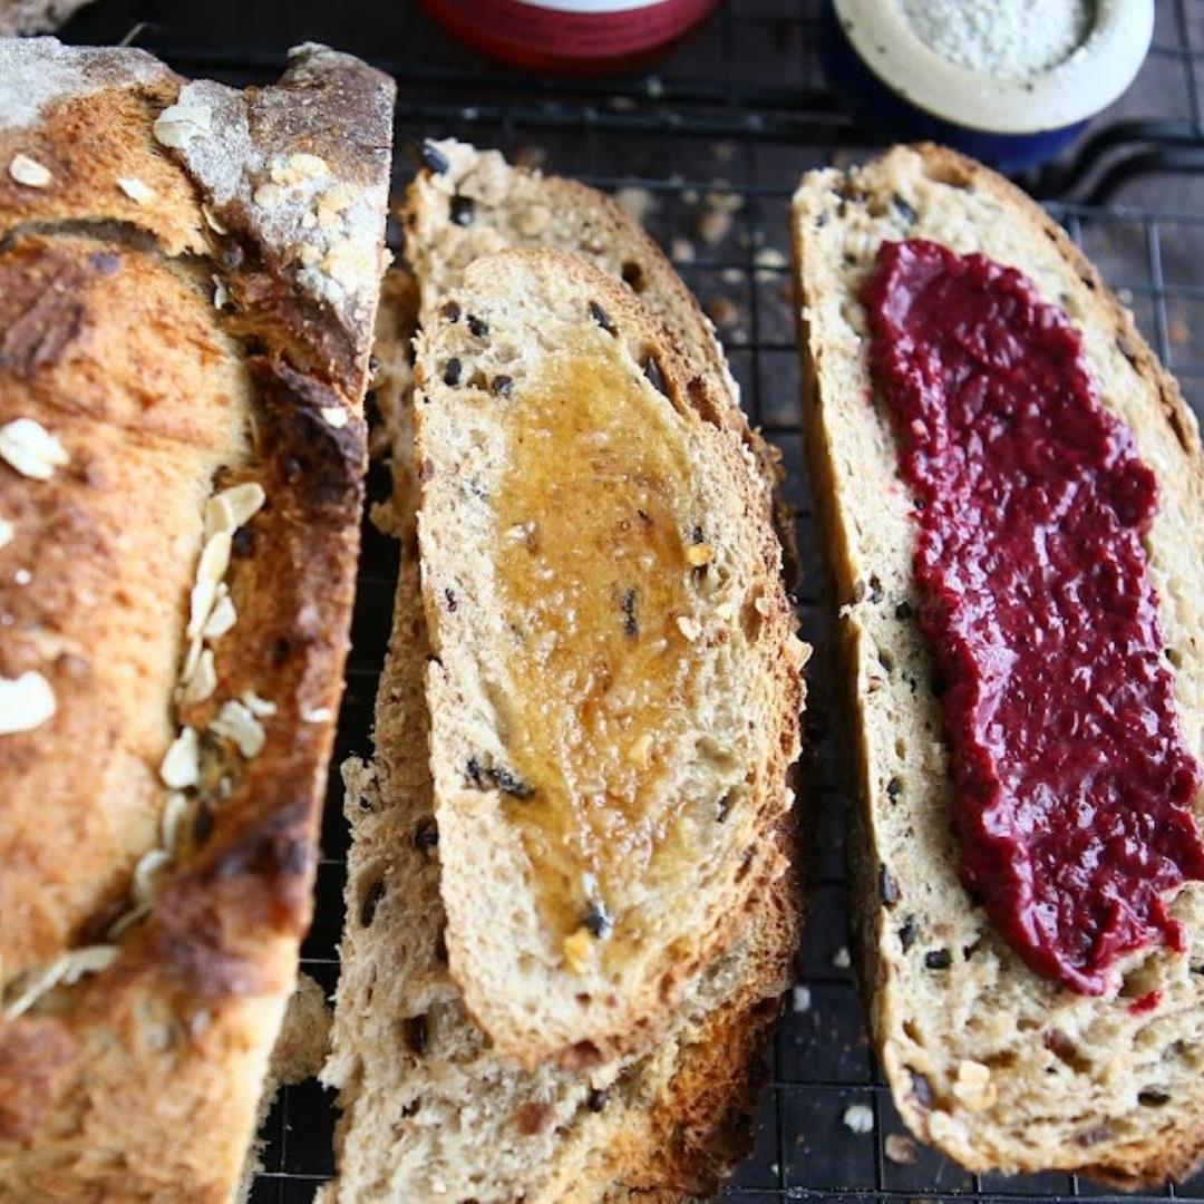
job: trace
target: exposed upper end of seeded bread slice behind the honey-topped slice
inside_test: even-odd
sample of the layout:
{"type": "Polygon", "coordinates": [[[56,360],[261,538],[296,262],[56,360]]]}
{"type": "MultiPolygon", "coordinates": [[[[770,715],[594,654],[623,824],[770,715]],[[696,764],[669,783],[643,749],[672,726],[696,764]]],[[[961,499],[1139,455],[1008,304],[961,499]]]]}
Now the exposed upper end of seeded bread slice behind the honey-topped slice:
{"type": "Polygon", "coordinates": [[[766,488],[777,484],[781,455],[749,427],[714,326],[638,223],[604,193],[512,166],[497,150],[447,138],[424,143],[423,159],[427,166],[406,190],[402,222],[424,321],[482,255],[508,247],[572,250],[621,279],[665,324],[690,371],[713,382],[715,405],[752,449],[766,488]]]}

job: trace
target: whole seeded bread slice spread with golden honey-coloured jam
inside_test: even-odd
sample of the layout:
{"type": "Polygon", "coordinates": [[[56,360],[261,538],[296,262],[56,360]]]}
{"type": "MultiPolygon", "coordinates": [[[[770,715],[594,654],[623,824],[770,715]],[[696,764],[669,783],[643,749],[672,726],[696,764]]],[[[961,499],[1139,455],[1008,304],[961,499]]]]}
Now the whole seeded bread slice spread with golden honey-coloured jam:
{"type": "Polygon", "coordinates": [[[453,978],[527,1067],[647,1049],[785,868],[803,648],[756,461],[560,252],[473,262],[415,390],[453,978]]]}

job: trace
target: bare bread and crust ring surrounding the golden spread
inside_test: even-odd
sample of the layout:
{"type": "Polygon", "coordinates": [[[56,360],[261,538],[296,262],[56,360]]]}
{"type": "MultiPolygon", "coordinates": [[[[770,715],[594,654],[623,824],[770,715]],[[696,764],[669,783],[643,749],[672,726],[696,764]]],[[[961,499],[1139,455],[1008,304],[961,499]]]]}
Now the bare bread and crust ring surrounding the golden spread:
{"type": "MultiPolygon", "coordinates": [[[[627,289],[579,258],[524,249],[476,260],[448,300],[470,317],[441,315],[418,342],[415,389],[424,402],[417,407],[415,460],[424,480],[423,589],[436,656],[427,697],[452,974],[504,1056],[527,1068],[548,1058],[589,1067],[648,1049],[689,984],[785,870],[763,833],[792,804],[786,778],[798,751],[805,649],[793,635],[755,461],[716,417],[720,406],[703,378],[690,376],[668,334],[627,289]],[[590,305],[601,307],[609,325],[590,318],[590,305]],[[473,318],[488,325],[488,336],[473,332],[473,318]],[[504,819],[506,786],[473,780],[466,769],[478,760],[509,763],[507,730],[519,720],[507,694],[517,687],[500,667],[506,639],[494,632],[526,621],[498,614],[492,576],[498,536],[491,498],[504,470],[498,438],[513,420],[510,403],[468,382],[478,373],[486,380],[510,373],[518,414],[545,356],[586,354],[588,346],[614,350],[643,390],[679,415],[663,438],[680,445],[694,476],[690,495],[674,496],[671,521],[686,530],[706,523],[716,557],[715,573],[692,586],[692,635],[673,631],[697,673],[691,680],[706,683],[687,687],[703,694],[689,718],[696,748],[673,779],[681,816],[675,822],[690,828],[697,860],[689,873],[662,880],[655,897],[645,898],[638,875],[615,884],[607,904],[618,914],[639,909],[643,934],[613,978],[601,962],[574,966],[562,952],[563,934],[539,913],[541,884],[504,819]],[[663,396],[643,376],[649,349],[663,396]],[[449,356],[462,360],[464,388],[445,379],[449,356]],[[710,760],[707,749],[715,750],[710,760]]],[[[683,569],[689,573],[684,562],[683,569]]],[[[539,805],[538,792],[532,805],[539,805]]],[[[650,801],[645,805],[650,816],[660,814],[650,801]]]]}

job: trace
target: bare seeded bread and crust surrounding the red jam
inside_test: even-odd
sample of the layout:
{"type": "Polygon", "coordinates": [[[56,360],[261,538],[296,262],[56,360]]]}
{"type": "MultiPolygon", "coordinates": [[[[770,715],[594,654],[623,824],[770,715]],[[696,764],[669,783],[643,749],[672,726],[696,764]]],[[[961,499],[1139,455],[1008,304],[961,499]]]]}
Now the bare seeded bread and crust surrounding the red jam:
{"type": "Polygon", "coordinates": [[[795,199],[805,427],[855,684],[862,805],[854,905],[873,1038],[911,1129],[974,1170],[1079,1170],[1121,1187],[1204,1150],[1204,886],[1174,904],[1187,950],[1123,967],[1120,998],[1058,990],[996,936],[957,877],[932,659],[911,613],[913,530],[872,401],[858,289],[886,238],[982,252],[1027,273],[1082,334],[1104,405],[1158,476],[1149,571],[1182,732],[1204,754],[1204,474],[1197,424],[1131,315],[1057,224],[986,169],[898,147],[795,199]],[[902,603],[908,603],[902,607],[902,603]],[[893,889],[881,890],[881,884],[893,889]],[[939,967],[945,955],[946,969],[939,967]],[[1129,1005],[1162,992],[1152,1010],[1129,1005]]]}

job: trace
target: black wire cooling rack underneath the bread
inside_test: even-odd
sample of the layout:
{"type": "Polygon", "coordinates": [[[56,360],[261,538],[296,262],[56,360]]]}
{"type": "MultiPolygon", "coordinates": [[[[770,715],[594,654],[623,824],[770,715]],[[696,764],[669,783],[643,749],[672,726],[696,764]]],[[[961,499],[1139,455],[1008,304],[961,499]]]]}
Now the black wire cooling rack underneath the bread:
{"type": "MultiPolygon", "coordinates": [[[[798,366],[790,302],[790,193],[808,167],[840,163],[873,144],[824,90],[814,48],[820,0],[727,0],[656,71],[604,81],[548,81],[490,67],[441,34],[405,0],[324,5],[294,0],[182,6],[100,0],[69,26],[79,42],[107,42],[140,22],[141,45],[185,73],[259,82],[287,46],[321,40],[360,53],[400,83],[397,146],[455,135],[526,161],[625,191],[650,232],[716,319],[755,423],[781,448],[786,497],[798,519],[804,636],[825,663],[827,608],[797,425],[798,366]],[[715,205],[708,194],[734,200],[715,205]],[[700,213],[732,207],[719,237],[700,213]]],[[[1197,405],[1204,400],[1204,2],[1157,0],[1155,47],[1133,89],[1097,123],[1066,165],[1022,181],[1050,207],[1129,305],[1163,361],[1197,405]],[[1157,175],[1152,175],[1157,173],[1157,175]],[[1078,202],[1075,201],[1078,199],[1078,202]],[[1121,205],[1111,203],[1122,201],[1121,205]],[[1157,209],[1139,207],[1151,200],[1157,209]],[[1096,203],[1082,203],[1091,201],[1096,203]],[[1108,201],[1102,206],[1100,201],[1108,201]],[[1192,211],[1196,212],[1192,212],[1192,211]]],[[[409,167],[399,157],[397,184],[409,167]]],[[[722,223],[718,223],[721,225],[722,223]]],[[[370,492],[383,496],[384,470],[370,492]]],[[[353,630],[354,650],[331,771],[318,872],[318,916],[302,966],[332,991],[342,923],[343,855],[338,762],[368,750],[376,674],[388,638],[396,551],[370,525],[353,630]]],[[[780,1199],[1020,1202],[1108,1197],[1063,1174],[972,1175],[915,1146],[862,1034],[846,964],[842,815],[825,714],[822,672],[811,683],[813,750],[805,805],[819,813],[813,893],[798,986],[772,1051],[756,1147],[726,1197],[780,1199]],[[870,1133],[846,1122],[866,1104],[870,1133]]],[[[282,1093],[265,1129],[256,1202],[300,1202],[334,1170],[330,1098],[314,1082],[282,1093]]],[[[1204,1176],[1162,1196],[1204,1198],[1204,1176]]],[[[1132,1197],[1128,1197],[1132,1198],[1132,1197]]]]}

